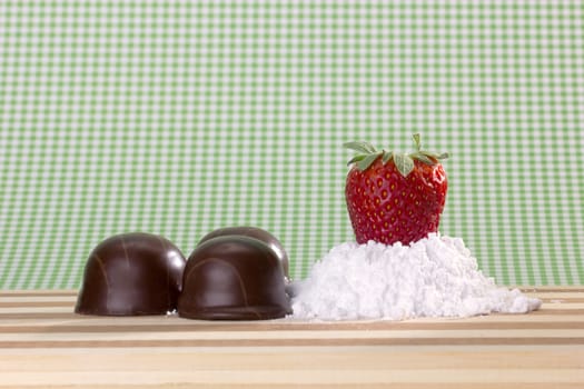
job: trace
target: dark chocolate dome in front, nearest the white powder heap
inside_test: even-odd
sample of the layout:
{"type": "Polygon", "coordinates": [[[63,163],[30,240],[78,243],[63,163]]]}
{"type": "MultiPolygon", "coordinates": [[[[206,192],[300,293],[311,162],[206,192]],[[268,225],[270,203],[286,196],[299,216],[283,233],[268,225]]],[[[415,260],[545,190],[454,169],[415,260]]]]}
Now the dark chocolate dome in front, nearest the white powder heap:
{"type": "Polygon", "coordinates": [[[275,251],[246,236],[221,236],[187,260],[178,315],[204,320],[263,320],[291,313],[275,251]]]}

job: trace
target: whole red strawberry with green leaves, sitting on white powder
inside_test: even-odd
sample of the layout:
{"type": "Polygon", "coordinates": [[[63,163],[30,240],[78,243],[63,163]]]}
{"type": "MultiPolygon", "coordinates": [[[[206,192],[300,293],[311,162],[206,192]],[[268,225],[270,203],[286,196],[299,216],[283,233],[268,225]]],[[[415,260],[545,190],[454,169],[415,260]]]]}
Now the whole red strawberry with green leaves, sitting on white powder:
{"type": "Polygon", "coordinates": [[[423,151],[419,134],[413,138],[410,154],[377,151],[368,142],[344,144],[359,152],[349,161],[345,187],[358,243],[409,245],[438,230],[448,187],[439,160],[448,154],[423,151]]]}

